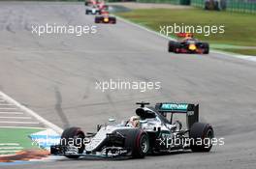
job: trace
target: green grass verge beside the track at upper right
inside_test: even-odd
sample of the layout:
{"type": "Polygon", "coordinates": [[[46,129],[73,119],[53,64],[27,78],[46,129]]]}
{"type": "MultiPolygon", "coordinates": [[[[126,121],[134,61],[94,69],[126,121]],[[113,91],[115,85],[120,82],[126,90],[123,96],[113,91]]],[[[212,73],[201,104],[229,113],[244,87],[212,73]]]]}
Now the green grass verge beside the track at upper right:
{"type": "MultiPolygon", "coordinates": [[[[160,32],[160,25],[224,25],[224,34],[195,34],[195,37],[213,43],[233,44],[242,46],[256,46],[256,17],[255,14],[238,14],[230,12],[212,12],[202,9],[170,10],[170,9],[146,9],[134,10],[128,13],[117,13],[127,18],[160,32]]],[[[175,36],[175,35],[173,35],[175,36]]],[[[234,50],[244,52],[243,50],[234,50]]],[[[251,50],[256,55],[255,50],[251,50]]],[[[246,53],[246,52],[245,52],[246,53]]]]}

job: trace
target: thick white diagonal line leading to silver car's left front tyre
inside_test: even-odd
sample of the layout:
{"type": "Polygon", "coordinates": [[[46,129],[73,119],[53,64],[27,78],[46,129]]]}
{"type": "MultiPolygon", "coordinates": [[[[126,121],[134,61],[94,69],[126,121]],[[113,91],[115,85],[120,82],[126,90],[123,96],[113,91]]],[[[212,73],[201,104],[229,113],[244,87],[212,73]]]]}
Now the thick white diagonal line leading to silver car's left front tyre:
{"type": "Polygon", "coordinates": [[[9,96],[7,96],[6,94],[4,94],[3,92],[0,92],[0,96],[2,96],[3,99],[7,100],[8,102],[15,104],[18,108],[20,108],[21,110],[27,112],[28,114],[30,114],[31,116],[33,116],[34,118],[36,118],[39,122],[43,123],[44,125],[46,125],[47,127],[55,130],[56,132],[58,132],[59,134],[62,133],[63,129],[61,127],[57,127],[56,125],[48,122],[48,120],[44,119],[43,117],[41,117],[40,115],[38,115],[36,112],[30,110],[29,108],[25,107],[24,105],[21,105],[19,102],[17,102],[15,99],[10,98],[9,96]]]}

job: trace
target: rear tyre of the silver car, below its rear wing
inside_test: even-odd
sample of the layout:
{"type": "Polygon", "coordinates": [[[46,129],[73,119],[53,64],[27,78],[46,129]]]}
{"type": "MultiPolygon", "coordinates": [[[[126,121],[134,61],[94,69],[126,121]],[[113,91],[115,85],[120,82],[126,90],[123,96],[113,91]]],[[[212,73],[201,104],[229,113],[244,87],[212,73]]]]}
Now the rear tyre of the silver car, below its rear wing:
{"type": "Polygon", "coordinates": [[[214,137],[213,128],[209,124],[195,123],[190,128],[189,137],[193,152],[209,152],[212,147],[211,139],[214,137]]]}

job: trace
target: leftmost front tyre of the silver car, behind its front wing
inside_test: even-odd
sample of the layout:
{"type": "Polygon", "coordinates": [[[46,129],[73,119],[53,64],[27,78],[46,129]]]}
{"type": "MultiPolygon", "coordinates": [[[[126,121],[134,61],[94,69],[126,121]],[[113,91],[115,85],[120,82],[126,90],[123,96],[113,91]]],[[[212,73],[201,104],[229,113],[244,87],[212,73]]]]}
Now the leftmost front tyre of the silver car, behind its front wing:
{"type": "MultiPolygon", "coordinates": [[[[85,146],[83,144],[83,140],[84,140],[84,133],[83,131],[80,129],[80,127],[68,127],[66,128],[62,134],[61,134],[61,145],[69,145],[70,143],[74,143],[74,145],[72,146],[76,146],[79,149],[79,154],[82,154],[85,146]],[[66,141],[64,141],[66,140],[66,141]]],[[[80,157],[80,155],[65,155],[66,157],[69,158],[78,158],[80,157]]]]}

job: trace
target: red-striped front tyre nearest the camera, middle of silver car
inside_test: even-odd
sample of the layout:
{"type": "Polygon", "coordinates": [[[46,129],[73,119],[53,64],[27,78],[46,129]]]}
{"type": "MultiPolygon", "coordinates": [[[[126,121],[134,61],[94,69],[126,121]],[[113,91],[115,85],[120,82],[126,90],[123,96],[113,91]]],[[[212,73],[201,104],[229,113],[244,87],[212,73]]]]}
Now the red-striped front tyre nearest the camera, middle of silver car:
{"type": "Polygon", "coordinates": [[[144,130],[135,128],[126,131],[125,147],[130,148],[134,158],[143,158],[149,150],[149,138],[144,130]]]}

